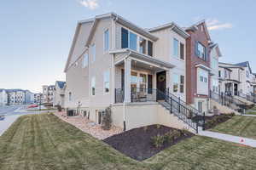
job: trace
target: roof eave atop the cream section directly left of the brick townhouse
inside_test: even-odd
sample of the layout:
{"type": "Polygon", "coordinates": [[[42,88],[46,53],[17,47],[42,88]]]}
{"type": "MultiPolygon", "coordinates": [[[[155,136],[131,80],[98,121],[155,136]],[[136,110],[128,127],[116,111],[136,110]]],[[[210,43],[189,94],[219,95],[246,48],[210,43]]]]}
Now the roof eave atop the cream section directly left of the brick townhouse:
{"type": "Polygon", "coordinates": [[[171,28],[173,31],[175,31],[177,34],[179,34],[183,38],[187,38],[190,36],[186,31],[183,30],[183,28],[181,28],[180,26],[177,26],[177,24],[175,24],[174,22],[167,23],[162,26],[156,26],[154,28],[150,28],[150,29],[148,29],[148,31],[154,32],[154,31],[160,31],[160,30],[163,30],[166,28],[171,28]]]}

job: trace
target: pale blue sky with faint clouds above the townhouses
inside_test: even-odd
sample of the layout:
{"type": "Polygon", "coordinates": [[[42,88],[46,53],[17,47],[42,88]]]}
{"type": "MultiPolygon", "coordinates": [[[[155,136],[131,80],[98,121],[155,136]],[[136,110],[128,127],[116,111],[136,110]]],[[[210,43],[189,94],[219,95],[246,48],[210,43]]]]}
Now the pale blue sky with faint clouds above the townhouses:
{"type": "Polygon", "coordinates": [[[249,61],[256,72],[254,0],[1,0],[0,88],[42,91],[65,81],[64,67],[78,20],[114,12],[137,26],[206,20],[220,61],[249,61]]]}

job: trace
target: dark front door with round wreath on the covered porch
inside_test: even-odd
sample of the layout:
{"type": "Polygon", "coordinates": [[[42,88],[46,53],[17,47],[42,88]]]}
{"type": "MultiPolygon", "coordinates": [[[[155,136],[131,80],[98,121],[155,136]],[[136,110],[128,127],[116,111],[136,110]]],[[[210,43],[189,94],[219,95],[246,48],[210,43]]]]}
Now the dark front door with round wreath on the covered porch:
{"type": "MultiPolygon", "coordinates": [[[[156,74],[156,88],[165,94],[166,92],[166,71],[161,71],[156,74]]],[[[165,99],[162,93],[157,94],[157,99],[165,99]]]]}

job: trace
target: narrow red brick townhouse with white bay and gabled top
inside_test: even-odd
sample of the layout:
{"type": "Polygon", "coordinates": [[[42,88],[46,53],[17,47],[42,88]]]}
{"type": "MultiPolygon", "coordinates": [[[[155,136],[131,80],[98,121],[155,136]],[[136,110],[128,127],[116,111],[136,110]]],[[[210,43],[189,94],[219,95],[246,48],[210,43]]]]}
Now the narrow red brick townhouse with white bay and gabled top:
{"type": "Polygon", "coordinates": [[[203,20],[193,26],[185,28],[189,33],[186,48],[186,82],[187,103],[195,106],[199,111],[209,109],[210,75],[212,74],[210,50],[211,37],[203,20]]]}

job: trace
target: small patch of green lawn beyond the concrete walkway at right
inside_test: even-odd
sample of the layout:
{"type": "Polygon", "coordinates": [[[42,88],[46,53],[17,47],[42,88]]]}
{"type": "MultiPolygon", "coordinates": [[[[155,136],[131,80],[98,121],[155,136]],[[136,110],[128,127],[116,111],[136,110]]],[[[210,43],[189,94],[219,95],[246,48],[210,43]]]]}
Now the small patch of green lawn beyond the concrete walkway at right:
{"type": "Polygon", "coordinates": [[[234,116],[211,131],[256,139],[256,116],[234,116]]]}

